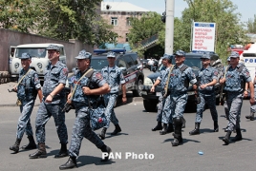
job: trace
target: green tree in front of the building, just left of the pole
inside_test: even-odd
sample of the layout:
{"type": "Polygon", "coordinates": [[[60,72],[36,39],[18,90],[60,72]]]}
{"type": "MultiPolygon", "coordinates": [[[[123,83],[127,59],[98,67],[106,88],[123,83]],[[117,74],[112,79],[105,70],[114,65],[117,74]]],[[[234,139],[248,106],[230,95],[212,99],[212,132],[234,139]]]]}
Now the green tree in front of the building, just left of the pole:
{"type": "MultiPolygon", "coordinates": [[[[164,24],[160,20],[160,14],[157,12],[147,12],[138,17],[131,17],[132,28],[128,34],[130,46],[137,50],[139,56],[143,56],[145,49],[139,44],[142,40],[150,38],[153,35],[160,35],[164,31],[164,24]]],[[[158,46],[147,50],[151,56],[160,56],[163,53],[164,44],[157,42],[158,46]]]]}

